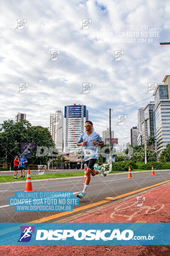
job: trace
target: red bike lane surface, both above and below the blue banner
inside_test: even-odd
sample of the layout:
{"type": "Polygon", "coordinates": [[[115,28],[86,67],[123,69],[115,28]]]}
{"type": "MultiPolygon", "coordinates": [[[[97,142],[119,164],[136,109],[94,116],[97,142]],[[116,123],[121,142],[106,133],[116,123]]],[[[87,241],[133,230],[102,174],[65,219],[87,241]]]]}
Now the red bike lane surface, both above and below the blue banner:
{"type": "MultiPolygon", "coordinates": [[[[170,184],[69,222],[169,222],[170,184]]],[[[2,256],[168,256],[169,245],[3,245],[2,256]]]]}

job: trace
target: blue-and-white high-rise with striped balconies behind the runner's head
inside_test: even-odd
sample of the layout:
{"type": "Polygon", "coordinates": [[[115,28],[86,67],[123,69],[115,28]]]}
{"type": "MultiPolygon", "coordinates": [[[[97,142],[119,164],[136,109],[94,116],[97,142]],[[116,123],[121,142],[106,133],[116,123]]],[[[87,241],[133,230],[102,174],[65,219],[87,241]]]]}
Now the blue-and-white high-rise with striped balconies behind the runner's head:
{"type": "Polygon", "coordinates": [[[88,110],[85,105],[67,105],[64,111],[64,152],[79,151],[77,140],[85,131],[88,110]]]}

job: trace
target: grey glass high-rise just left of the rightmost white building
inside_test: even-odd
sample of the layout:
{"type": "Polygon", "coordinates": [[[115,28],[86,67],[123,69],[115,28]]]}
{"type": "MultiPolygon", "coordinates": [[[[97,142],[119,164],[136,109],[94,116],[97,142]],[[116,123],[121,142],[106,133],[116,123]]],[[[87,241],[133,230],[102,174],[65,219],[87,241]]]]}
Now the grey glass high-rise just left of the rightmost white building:
{"type": "MultiPolygon", "coordinates": [[[[155,112],[153,111],[154,107],[155,107],[155,102],[149,102],[143,108],[146,140],[148,140],[149,137],[156,137],[156,120],[155,120],[155,112]]],[[[142,136],[144,138],[144,124],[143,123],[142,123],[142,136]]],[[[153,145],[153,150],[154,149],[156,149],[156,142],[153,145]]]]}

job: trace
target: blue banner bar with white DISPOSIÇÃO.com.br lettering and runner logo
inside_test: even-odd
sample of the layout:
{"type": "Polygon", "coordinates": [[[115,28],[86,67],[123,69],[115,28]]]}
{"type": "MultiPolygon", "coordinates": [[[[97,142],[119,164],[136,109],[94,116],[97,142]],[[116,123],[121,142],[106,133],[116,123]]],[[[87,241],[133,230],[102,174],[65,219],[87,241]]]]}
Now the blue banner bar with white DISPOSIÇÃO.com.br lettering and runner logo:
{"type": "Polygon", "coordinates": [[[0,245],[168,245],[170,223],[0,223],[0,245]]]}

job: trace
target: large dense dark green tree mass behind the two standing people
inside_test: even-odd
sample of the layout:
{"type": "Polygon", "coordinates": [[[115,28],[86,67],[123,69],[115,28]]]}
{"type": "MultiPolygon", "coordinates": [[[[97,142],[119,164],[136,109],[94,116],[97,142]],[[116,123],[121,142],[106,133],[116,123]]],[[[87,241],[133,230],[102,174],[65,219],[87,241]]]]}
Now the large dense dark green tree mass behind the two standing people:
{"type": "Polygon", "coordinates": [[[15,155],[20,155],[20,143],[34,143],[34,149],[31,149],[31,157],[28,159],[28,164],[45,164],[48,156],[37,157],[37,147],[54,147],[51,134],[48,128],[42,126],[31,126],[27,120],[14,123],[13,120],[4,121],[0,124],[0,163],[6,162],[7,148],[7,163],[14,161],[15,155]],[[7,145],[8,143],[8,145],[7,145]]]}

